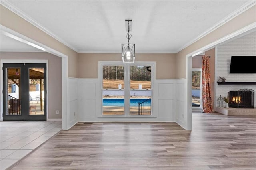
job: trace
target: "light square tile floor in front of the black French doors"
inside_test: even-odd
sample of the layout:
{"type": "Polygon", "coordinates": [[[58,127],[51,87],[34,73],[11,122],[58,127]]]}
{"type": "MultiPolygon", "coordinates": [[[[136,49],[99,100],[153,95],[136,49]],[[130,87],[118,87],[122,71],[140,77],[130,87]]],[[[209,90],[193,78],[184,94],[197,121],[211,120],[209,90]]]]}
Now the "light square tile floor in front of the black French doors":
{"type": "Polygon", "coordinates": [[[58,133],[61,122],[0,122],[0,170],[4,170],[58,133]]]}

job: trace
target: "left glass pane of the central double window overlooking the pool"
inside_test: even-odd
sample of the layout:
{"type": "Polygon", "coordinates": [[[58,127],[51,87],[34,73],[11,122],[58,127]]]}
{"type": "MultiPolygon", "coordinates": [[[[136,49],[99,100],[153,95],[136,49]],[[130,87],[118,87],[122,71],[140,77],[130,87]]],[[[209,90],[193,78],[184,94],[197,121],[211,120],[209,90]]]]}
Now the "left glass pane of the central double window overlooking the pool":
{"type": "Polygon", "coordinates": [[[124,66],[103,66],[103,115],[124,115],[124,66]]]}

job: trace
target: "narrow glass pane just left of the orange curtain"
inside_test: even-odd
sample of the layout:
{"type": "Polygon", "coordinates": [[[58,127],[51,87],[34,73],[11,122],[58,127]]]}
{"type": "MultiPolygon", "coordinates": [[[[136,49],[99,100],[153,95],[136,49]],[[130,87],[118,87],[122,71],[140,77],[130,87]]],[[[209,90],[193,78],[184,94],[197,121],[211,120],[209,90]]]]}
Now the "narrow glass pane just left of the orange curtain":
{"type": "Polygon", "coordinates": [[[192,107],[201,107],[201,71],[192,71],[192,107]]]}

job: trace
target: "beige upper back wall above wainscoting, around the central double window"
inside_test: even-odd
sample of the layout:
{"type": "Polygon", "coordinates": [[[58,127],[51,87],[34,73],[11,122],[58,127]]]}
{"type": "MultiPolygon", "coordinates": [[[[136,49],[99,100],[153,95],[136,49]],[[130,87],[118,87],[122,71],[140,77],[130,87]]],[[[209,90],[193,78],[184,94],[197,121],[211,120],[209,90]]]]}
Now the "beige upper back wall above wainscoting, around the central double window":
{"type": "MultiPolygon", "coordinates": [[[[155,61],[156,79],[175,79],[175,54],[136,54],[136,61],[155,61]]],[[[98,61],[122,61],[119,53],[78,53],[78,78],[98,78],[98,61]]]]}

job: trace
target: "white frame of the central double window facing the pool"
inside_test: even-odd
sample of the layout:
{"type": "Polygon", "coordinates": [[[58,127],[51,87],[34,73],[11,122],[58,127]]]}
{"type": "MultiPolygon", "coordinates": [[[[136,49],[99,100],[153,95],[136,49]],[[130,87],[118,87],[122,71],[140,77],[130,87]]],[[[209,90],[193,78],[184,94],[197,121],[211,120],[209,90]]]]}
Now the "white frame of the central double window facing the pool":
{"type": "Polygon", "coordinates": [[[156,117],[153,111],[154,81],[156,79],[156,62],[123,63],[122,61],[99,61],[98,77],[100,82],[100,115],[98,117],[156,117]],[[103,66],[124,66],[124,115],[103,115],[103,66]],[[130,115],[130,66],[146,65],[151,67],[151,115],[130,115]]]}

